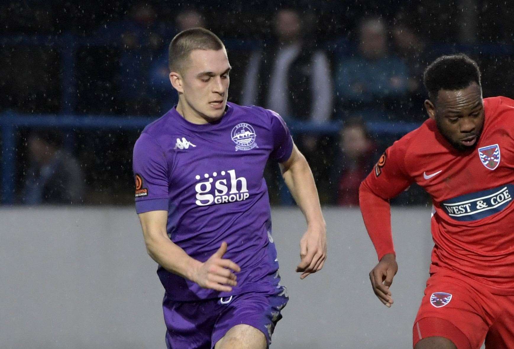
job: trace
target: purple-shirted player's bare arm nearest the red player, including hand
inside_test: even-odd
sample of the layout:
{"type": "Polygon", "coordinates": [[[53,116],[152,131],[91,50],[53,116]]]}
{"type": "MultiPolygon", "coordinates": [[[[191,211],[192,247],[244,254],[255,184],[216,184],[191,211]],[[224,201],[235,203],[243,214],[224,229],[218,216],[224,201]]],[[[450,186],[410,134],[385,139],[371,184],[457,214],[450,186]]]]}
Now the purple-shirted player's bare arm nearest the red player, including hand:
{"type": "Polygon", "coordinates": [[[293,147],[289,159],[280,164],[282,176],[307,220],[307,231],[300,240],[300,278],[315,273],[326,259],[326,224],[321,213],[318,190],[305,156],[293,147]]]}

